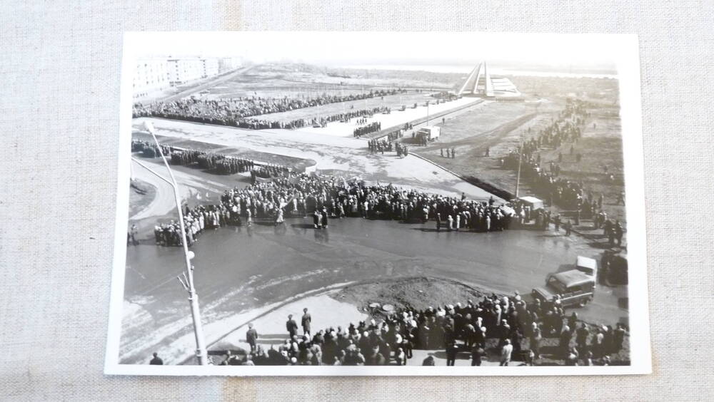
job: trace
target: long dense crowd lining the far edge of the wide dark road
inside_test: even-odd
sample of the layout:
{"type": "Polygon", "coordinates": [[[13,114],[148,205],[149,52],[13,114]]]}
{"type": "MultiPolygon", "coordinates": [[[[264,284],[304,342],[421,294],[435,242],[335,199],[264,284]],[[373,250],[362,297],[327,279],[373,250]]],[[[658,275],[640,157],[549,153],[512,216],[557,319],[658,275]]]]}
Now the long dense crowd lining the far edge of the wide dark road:
{"type": "MultiPolygon", "coordinates": [[[[406,155],[406,149],[401,150],[406,155]]],[[[245,188],[226,190],[218,205],[186,207],[186,226],[191,226],[193,239],[204,227],[248,225],[255,218],[269,218],[282,223],[286,215],[307,216],[321,211],[326,217],[364,217],[370,219],[403,220],[408,222],[436,221],[437,230],[473,230],[486,232],[509,227],[514,210],[508,205],[467,200],[466,195],[448,197],[393,185],[366,185],[361,180],[345,180],[333,176],[311,176],[304,173],[273,177],[271,181],[256,181],[245,188]],[[198,221],[198,222],[196,222],[198,221]],[[201,223],[203,222],[203,223],[201,223]]],[[[162,233],[178,230],[178,224],[159,227],[162,233]]],[[[171,237],[171,236],[169,236],[171,237]]],[[[190,244],[193,239],[188,239],[190,244]]],[[[157,235],[156,242],[166,242],[157,235]]]]}

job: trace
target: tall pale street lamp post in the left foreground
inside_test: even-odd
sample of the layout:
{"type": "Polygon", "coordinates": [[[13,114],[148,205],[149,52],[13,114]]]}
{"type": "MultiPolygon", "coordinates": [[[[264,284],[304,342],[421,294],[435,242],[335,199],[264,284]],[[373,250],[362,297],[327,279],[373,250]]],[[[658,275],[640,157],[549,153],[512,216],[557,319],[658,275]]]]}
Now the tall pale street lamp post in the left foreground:
{"type": "Polygon", "coordinates": [[[164,165],[166,165],[166,170],[169,170],[169,176],[171,180],[166,180],[164,176],[159,175],[159,173],[154,172],[151,168],[144,165],[143,163],[136,160],[136,158],[131,158],[134,162],[138,163],[141,167],[149,170],[157,177],[161,178],[165,182],[169,183],[174,189],[174,198],[176,200],[176,209],[178,210],[178,225],[181,227],[181,243],[183,244],[183,257],[186,262],[186,271],[178,276],[178,282],[181,282],[183,289],[188,292],[188,303],[191,305],[191,318],[193,319],[193,333],[196,336],[196,359],[198,359],[198,364],[201,366],[206,366],[208,364],[208,354],[206,353],[206,339],[203,337],[203,324],[201,324],[201,310],[198,308],[198,294],[196,294],[196,288],[193,287],[193,265],[191,265],[191,259],[193,258],[193,252],[188,251],[188,241],[186,240],[186,227],[183,225],[183,211],[181,210],[181,197],[178,194],[178,184],[176,183],[176,178],[174,178],[174,173],[171,172],[169,168],[169,162],[166,161],[164,152],[161,150],[161,145],[159,145],[159,140],[156,139],[154,130],[147,127],[149,133],[154,138],[156,146],[159,148],[159,154],[161,159],[164,160],[164,165]]]}

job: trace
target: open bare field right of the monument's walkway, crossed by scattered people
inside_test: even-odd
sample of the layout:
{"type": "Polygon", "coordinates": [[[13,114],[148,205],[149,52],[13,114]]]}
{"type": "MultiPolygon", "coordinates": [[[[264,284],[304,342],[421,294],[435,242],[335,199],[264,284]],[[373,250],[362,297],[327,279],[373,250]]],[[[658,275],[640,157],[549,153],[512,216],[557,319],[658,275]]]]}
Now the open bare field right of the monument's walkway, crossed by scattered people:
{"type": "MultiPolygon", "coordinates": [[[[563,153],[560,177],[582,180],[585,189],[594,197],[603,194],[603,210],[608,217],[626,222],[624,206],[617,205],[618,195],[624,191],[617,81],[605,78],[527,77],[514,78],[514,82],[521,91],[538,93],[540,101],[536,103],[531,93],[526,103],[497,102],[462,113],[446,120],[445,124],[439,123],[442,131],[438,142],[427,147],[414,146],[411,151],[459,175],[476,177],[515,194],[516,171],[501,168],[501,158],[518,147],[521,133],[528,139],[550,125],[551,119],[557,119],[560,110],[565,108],[566,98],[588,100],[593,103],[593,108],[588,109],[590,118],[583,125],[582,138],[575,144],[565,143],[557,149],[541,150],[541,166],[547,168],[550,161],[557,163],[558,155],[563,153]],[[531,135],[527,133],[528,128],[532,130],[531,135]],[[453,148],[456,157],[442,157],[441,150],[446,148],[453,148]],[[485,156],[487,149],[490,156],[485,156]],[[578,153],[582,155],[580,163],[575,158],[578,153]],[[605,175],[605,165],[614,180],[605,175]]],[[[521,180],[519,195],[532,195],[530,184],[528,180],[521,180]]],[[[568,211],[560,212],[568,214],[568,211]]],[[[588,227],[581,229],[587,230],[588,227]]]]}

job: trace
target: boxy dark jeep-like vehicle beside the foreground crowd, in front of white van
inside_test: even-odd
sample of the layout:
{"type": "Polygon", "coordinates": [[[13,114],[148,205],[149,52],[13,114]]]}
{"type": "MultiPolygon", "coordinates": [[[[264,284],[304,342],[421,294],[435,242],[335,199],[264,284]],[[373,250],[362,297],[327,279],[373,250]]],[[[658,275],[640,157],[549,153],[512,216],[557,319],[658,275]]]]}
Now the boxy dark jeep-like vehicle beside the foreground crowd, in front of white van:
{"type": "Polygon", "coordinates": [[[560,300],[563,307],[584,307],[595,297],[595,277],[578,269],[548,275],[545,287],[533,289],[533,297],[545,304],[560,300]]]}

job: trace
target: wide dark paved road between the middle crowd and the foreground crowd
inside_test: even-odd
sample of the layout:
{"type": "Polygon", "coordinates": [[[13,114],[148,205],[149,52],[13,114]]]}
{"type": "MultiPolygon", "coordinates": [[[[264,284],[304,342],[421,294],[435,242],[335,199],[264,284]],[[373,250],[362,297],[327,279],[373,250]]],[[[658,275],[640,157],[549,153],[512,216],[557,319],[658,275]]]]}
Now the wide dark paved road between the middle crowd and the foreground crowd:
{"type": "MultiPolygon", "coordinates": [[[[361,218],[313,230],[309,222],[291,218],[284,227],[256,222],[249,229],[228,227],[200,237],[193,262],[208,341],[229,330],[229,321],[236,322],[231,316],[241,311],[336,283],[428,275],[527,294],[576,255],[595,254],[578,237],[540,231],[435,232],[432,222],[361,218]]],[[[127,253],[121,352],[128,363],[144,361],[155,350],[166,356],[190,354],[193,348],[186,294],[174,279],[181,271],[181,249],[151,243],[147,239],[127,253]]],[[[602,287],[578,314],[614,324],[627,311],[602,287]]]]}

